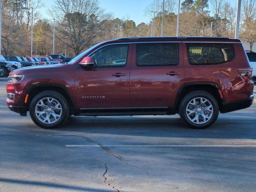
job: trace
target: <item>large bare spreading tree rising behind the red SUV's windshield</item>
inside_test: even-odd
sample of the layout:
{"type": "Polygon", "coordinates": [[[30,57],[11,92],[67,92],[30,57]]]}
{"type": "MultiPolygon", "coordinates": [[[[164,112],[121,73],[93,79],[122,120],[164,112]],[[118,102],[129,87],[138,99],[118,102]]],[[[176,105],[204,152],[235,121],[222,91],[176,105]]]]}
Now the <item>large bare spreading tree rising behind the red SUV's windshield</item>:
{"type": "Polygon", "coordinates": [[[98,0],[53,0],[48,13],[56,20],[60,41],[66,38],[67,46],[77,55],[104,35],[105,21],[110,18],[99,7],[98,0]]]}

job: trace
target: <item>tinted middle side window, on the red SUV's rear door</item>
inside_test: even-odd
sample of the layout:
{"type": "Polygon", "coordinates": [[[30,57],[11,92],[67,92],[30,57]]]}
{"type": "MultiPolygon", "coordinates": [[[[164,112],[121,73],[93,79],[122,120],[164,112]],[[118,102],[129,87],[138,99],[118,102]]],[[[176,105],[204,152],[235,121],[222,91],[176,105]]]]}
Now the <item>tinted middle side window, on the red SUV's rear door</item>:
{"type": "Polygon", "coordinates": [[[138,43],[136,62],[139,66],[178,64],[178,43],[138,43]]]}

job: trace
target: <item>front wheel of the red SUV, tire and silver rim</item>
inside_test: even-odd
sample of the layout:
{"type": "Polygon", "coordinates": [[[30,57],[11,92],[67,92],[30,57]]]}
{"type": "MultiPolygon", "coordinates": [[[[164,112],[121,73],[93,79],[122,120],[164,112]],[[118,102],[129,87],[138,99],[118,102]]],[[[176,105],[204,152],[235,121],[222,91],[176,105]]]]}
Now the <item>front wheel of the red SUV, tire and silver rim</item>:
{"type": "Polygon", "coordinates": [[[66,98],[56,91],[44,91],[30,102],[29,113],[33,122],[42,128],[56,128],[69,116],[66,98]]]}

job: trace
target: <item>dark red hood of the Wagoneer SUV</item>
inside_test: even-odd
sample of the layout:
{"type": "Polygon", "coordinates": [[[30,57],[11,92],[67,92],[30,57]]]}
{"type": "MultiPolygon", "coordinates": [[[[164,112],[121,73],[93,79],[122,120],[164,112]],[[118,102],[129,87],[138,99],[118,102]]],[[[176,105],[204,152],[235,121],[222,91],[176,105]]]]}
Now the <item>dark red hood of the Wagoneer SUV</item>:
{"type": "Polygon", "coordinates": [[[55,64],[55,65],[36,65],[36,66],[28,66],[23,68],[18,68],[16,70],[13,70],[11,74],[30,74],[30,73],[44,73],[44,72],[60,72],[62,66],[64,64],[55,64]]]}

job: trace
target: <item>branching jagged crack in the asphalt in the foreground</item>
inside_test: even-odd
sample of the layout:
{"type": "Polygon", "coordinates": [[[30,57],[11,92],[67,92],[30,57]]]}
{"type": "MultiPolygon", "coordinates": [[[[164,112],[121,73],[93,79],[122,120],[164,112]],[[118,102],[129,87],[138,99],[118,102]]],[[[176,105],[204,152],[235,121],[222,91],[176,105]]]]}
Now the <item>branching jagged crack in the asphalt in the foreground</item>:
{"type": "MultiPolygon", "coordinates": [[[[140,167],[138,167],[138,166],[129,164],[129,163],[128,163],[129,160],[126,160],[126,161],[125,161],[122,156],[116,154],[114,151],[112,151],[112,150],[110,150],[110,148],[108,148],[108,147],[102,145],[100,142],[94,141],[94,140],[92,140],[91,138],[86,137],[86,136],[80,136],[80,137],[84,138],[84,139],[87,140],[88,142],[97,144],[97,145],[100,146],[103,150],[105,150],[108,154],[110,154],[111,156],[114,156],[115,158],[118,158],[118,159],[119,159],[121,162],[123,162],[124,164],[126,164],[126,165],[128,165],[128,166],[132,166],[132,167],[134,167],[134,168],[137,168],[137,169],[140,169],[140,170],[146,172],[146,175],[147,175],[150,179],[152,179],[152,178],[149,176],[147,170],[145,170],[145,169],[143,169],[143,168],[140,168],[140,167]]],[[[110,161],[109,161],[109,162],[110,162],[110,161]]],[[[107,164],[107,163],[106,163],[106,164],[107,164]]],[[[108,182],[108,178],[105,177],[105,176],[106,176],[106,173],[107,173],[107,171],[108,171],[108,167],[106,166],[106,164],[105,164],[106,172],[103,174],[103,177],[104,177],[104,179],[105,179],[105,180],[104,180],[105,183],[107,183],[108,185],[110,185],[109,182],[108,182]]],[[[112,186],[112,185],[110,185],[110,186],[112,186]]],[[[113,186],[112,186],[112,187],[113,187],[113,186]]],[[[113,187],[113,188],[114,188],[114,187],[113,187]]],[[[115,188],[115,189],[117,189],[117,188],[115,188]]],[[[117,189],[117,190],[119,190],[118,192],[121,192],[120,189],[117,189]]]]}

